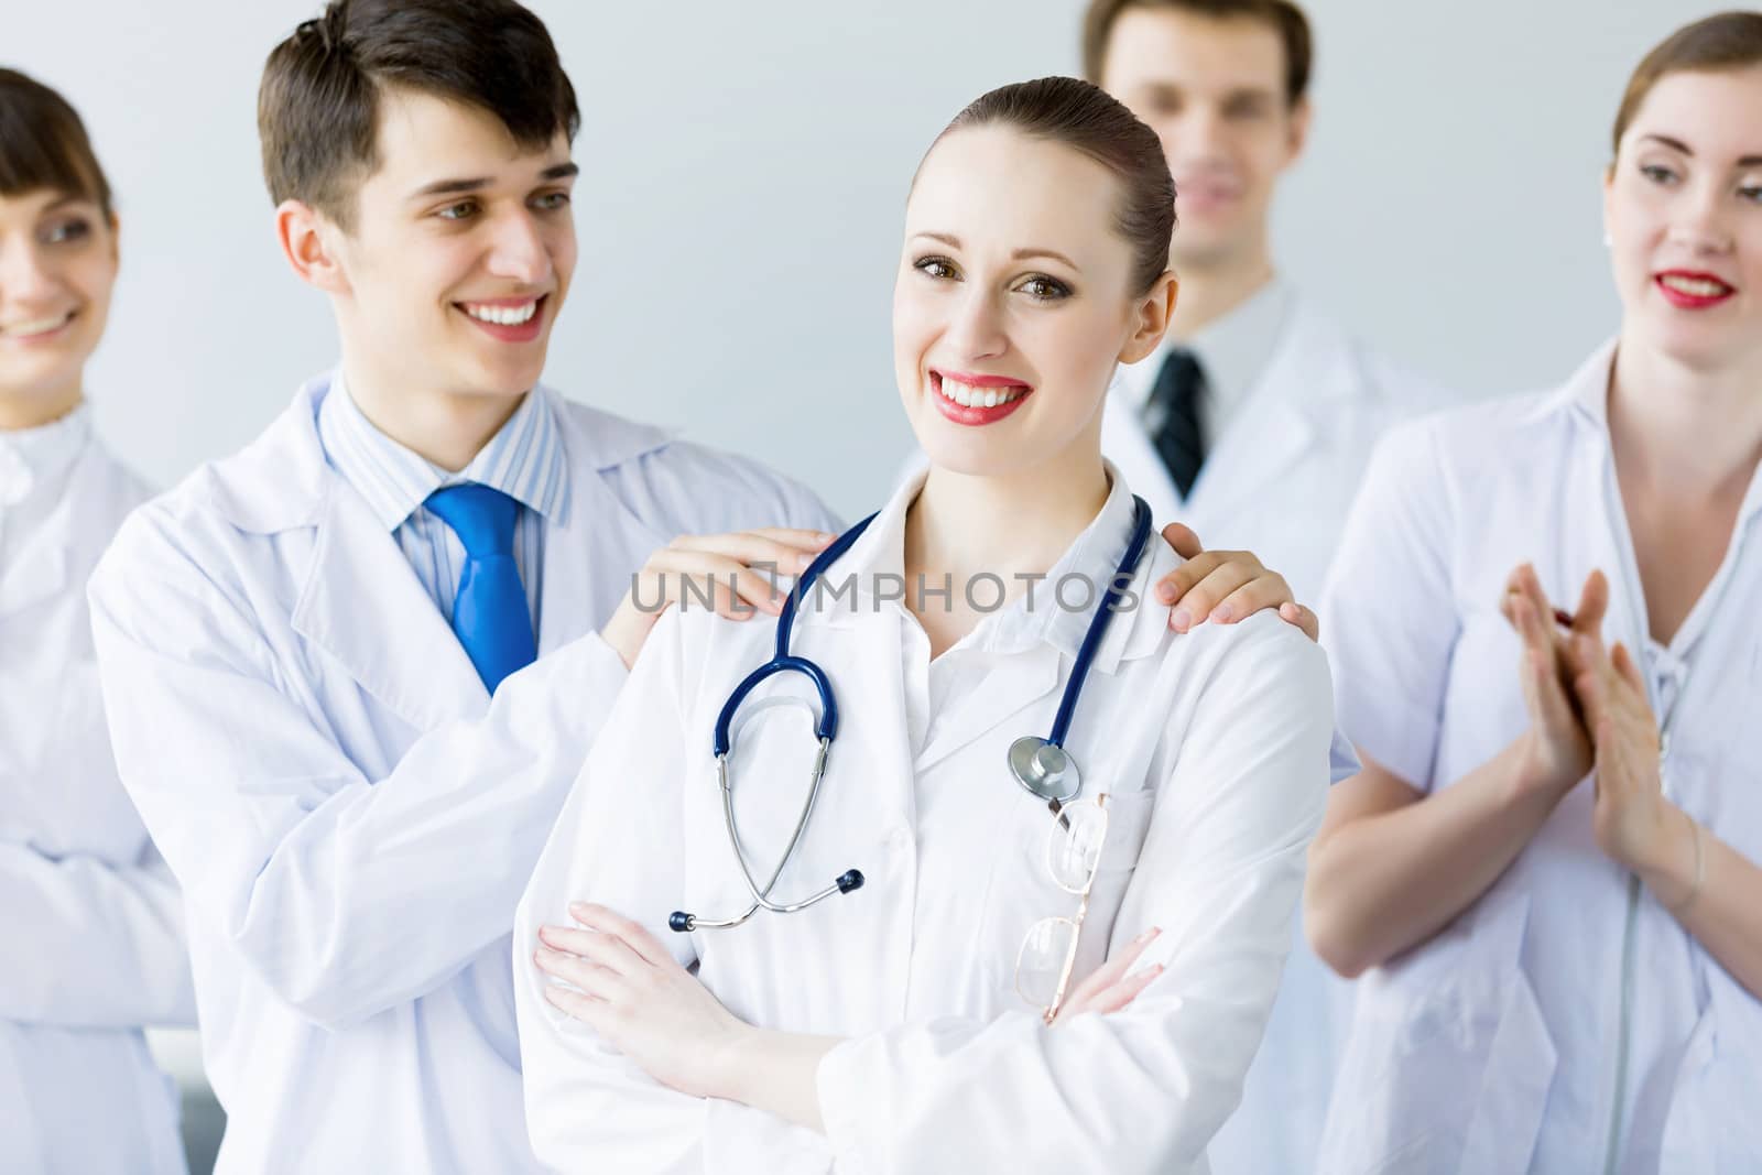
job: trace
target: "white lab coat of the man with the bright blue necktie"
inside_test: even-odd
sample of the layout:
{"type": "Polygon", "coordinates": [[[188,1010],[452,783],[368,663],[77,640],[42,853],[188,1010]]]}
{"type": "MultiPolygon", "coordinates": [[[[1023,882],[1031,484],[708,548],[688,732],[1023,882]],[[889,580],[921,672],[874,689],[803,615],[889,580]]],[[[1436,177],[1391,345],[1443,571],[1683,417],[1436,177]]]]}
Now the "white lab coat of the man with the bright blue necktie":
{"type": "Polygon", "coordinates": [[[92,581],[122,779],[190,909],[218,1170],[532,1170],[507,930],[626,680],[596,632],[677,534],[830,518],[751,462],[559,402],[541,657],[492,703],[324,462],[328,386],[130,516],[92,581]]]}

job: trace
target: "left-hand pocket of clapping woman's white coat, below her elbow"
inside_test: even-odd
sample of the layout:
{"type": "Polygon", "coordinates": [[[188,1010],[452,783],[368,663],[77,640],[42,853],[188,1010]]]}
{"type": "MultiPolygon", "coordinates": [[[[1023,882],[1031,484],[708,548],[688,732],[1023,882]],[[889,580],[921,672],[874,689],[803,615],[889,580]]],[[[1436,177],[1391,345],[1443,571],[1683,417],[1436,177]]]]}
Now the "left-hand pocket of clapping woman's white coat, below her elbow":
{"type": "Polygon", "coordinates": [[[1505,895],[1366,976],[1316,1170],[1524,1171],[1558,1055],[1505,895]]]}

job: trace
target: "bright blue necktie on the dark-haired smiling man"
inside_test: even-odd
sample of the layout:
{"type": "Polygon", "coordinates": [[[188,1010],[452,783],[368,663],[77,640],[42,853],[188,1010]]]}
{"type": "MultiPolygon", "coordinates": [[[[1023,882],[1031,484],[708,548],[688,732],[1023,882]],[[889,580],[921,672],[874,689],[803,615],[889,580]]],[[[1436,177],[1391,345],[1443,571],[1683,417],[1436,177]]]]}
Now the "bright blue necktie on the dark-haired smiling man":
{"type": "Polygon", "coordinates": [[[532,664],[532,613],[515,564],[520,502],[474,481],[435,490],[423,502],[465,544],[465,569],[453,595],[453,631],[492,694],[509,673],[532,664]]]}

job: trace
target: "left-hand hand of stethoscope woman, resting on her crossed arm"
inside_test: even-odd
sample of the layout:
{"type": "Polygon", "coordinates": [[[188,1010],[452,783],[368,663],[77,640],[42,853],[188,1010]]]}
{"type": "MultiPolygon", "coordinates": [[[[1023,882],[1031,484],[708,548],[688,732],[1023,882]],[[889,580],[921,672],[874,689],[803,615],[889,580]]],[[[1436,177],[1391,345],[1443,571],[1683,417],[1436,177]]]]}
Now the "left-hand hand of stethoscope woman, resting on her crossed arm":
{"type": "Polygon", "coordinates": [[[576,902],[585,928],[539,927],[532,962],[555,979],[544,999],[589,1025],[663,1085],[715,1097],[752,1027],[710,995],[643,927],[576,902]]]}

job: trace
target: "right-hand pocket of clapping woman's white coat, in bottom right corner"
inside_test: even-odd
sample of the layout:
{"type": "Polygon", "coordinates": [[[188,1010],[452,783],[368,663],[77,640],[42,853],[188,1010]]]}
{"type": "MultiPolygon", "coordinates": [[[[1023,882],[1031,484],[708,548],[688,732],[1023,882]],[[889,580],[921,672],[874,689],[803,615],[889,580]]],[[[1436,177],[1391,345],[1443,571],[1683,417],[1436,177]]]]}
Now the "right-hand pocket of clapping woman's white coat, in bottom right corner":
{"type": "Polygon", "coordinates": [[[1744,1043],[1737,1031],[1748,1016],[1751,1038],[1762,1036],[1757,1032],[1762,1009],[1736,985],[1720,983],[1729,981],[1716,981],[1677,1064],[1658,1152],[1660,1175],[1748,1175],[1762,1154],[1755,1113],[1762,1039],[1744,1043]]]}

